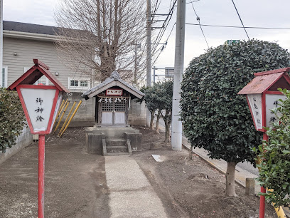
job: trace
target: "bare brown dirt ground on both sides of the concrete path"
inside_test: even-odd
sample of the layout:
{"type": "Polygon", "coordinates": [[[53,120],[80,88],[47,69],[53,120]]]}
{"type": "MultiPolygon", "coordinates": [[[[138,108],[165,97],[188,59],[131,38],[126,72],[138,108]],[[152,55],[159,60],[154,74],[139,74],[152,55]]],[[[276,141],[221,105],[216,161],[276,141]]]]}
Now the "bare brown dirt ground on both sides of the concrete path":
{"type": "MultiPolygon", "coordinates": [[[[168,217],[258,217],[259,199],[245,196],[236,185],[237,197],[226,197],[225,176],[198,156],[189,160],[187,150],[173,152],[170,143],[147,128],[138,162],[159,195],[168,217]],[[162,148],[149,150],[151,142],[162,148]],[[152,154],[161,155],[156,162],[152,154]]],[[[37,217],[37,143],[0,165],[0,218],[37,217]]],[[[104,157],[87,154],[83,128],[69,128],[62,138],[45,137],[45,217],[110,217],[109,190],[104,157]]],[[[276,217],[267,206],[266,217],[276,217]]]]}

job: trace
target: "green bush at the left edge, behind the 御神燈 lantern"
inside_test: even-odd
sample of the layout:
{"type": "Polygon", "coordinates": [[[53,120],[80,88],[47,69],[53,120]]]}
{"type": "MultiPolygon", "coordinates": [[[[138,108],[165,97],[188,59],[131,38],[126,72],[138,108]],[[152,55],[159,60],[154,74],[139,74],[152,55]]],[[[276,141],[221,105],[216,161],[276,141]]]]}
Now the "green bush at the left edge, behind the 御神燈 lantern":
{"type": "Polygon", "coordinates": [[[18,95],[14,91],[0,88],[0,151],[15,144],[21,134],[25,116],[18,95]]]}

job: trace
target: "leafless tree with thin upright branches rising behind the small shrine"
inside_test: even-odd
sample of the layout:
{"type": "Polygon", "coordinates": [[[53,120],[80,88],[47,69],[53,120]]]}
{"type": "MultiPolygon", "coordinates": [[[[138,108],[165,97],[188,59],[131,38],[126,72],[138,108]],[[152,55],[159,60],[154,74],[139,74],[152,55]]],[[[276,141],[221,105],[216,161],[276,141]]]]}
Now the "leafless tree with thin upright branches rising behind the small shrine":
{"type": "Polygon", "coordinates": [[[144,51],[134,48],[136,41],[144,42],[145,5],[142,0],[63,0],[55,21],[64,60],[75,71],[80,64],[92,68],[98,81],[114,70],[133,81],[133,73],[144,66],[144,51]]]}

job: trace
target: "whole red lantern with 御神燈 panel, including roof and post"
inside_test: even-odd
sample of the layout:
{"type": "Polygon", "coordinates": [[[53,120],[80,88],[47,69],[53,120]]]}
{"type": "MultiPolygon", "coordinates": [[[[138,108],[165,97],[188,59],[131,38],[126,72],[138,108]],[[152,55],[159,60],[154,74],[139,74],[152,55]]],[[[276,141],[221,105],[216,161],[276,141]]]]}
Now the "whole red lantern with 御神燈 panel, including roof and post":
{"type": "Polygon", "coordinates": [[[38,59],[34,66],[12,83],[7,90],[17,90],[32,134],[38,134],[38,217],[44,217],[45,135],[53,128],[63,93],[68,90],[50,73],[49,67],[38,59]],[[53,85],[33,85],[46,76],[53,85]]]}

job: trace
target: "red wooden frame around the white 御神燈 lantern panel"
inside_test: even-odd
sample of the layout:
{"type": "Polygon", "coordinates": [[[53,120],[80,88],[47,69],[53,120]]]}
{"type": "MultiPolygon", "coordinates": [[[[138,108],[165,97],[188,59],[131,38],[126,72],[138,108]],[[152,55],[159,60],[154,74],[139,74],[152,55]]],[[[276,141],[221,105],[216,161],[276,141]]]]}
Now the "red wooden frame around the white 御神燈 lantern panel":
{"type": "Polygon", "coordinates": [[[32,134],[39,134],[39,135],[47,135],[49,134],[51,131],[51,125],[53,124],[53,114],[54,114],[54,111],[55,111],[55,107],[56,107],[56,103],[58,101],[58,94],[60,93],[60,90],[55,86],[55,85],[17,85],[16,86],[16,90],[17,90],[17,93],[18,93],[18,96],[19,96],[19,99],[21,101],[21,105],[22,105],[22,108],[24,110],[24,113],[25,113],[25,116],[26,116],[26,120],[28,122],[28,126],[31,130],[31,133],[32,134]],[[26,105],[25,105],[25,102],[24,102],[24,99],[23,99],[23,96],[22,96],[22,93],[21,93],[21,90],[20,88],[33,88],[33,89],[55,89],[55,97],[53,99],[53,107],[51,108],[51,111],[50,111],[50,116],[49,116],[49,120],[48,120],[48,127],[46,128],[46,130],[44,131],[34,131],[33,130],[33,126],[32,126],[32,123],[31,123],[31,118],[28,114],[28,111],[27,111],[27,108],[26,108],[26,105]]]}

